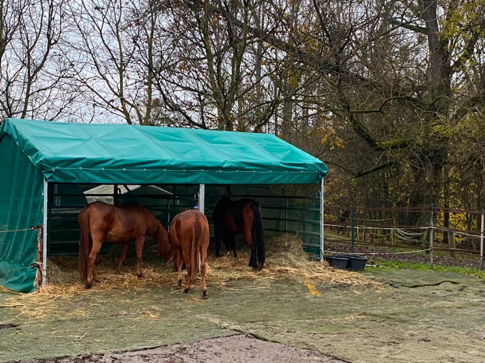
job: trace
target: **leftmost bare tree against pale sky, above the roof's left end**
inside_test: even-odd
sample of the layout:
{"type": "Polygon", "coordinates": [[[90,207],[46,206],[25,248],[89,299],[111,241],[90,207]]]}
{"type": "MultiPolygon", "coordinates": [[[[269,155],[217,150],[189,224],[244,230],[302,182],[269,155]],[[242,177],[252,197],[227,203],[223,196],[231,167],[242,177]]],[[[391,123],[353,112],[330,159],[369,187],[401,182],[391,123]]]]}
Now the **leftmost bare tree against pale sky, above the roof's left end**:
{"type": "Polygon", "coordinates": [[[74,115],[66,92],[71,65],[61,56],[68,32],[63,0],[0,0],[0,107],[3,117],[74,115]]]}

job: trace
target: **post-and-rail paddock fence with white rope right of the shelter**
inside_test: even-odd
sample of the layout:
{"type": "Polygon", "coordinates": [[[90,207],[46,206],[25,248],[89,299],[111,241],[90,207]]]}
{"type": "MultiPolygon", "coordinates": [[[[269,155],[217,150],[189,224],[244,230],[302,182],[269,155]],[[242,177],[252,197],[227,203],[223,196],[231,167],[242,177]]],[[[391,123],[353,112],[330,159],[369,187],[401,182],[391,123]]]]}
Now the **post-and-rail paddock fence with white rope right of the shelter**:
{"type": "Polygon", "coordinates": [[[341,234],[342,238],[335,241],[350,243],[351,250],[362,243],[403,249],[426,247],[431,264],[433,251],[443,251],[452,257],[455,253],[478,255],[483,267],[483,211],[434,206],[356,209],[325,206],[325,211],[325,228],[341,234]],[[410,220],[416,223],[406,223],[410,220]]]}

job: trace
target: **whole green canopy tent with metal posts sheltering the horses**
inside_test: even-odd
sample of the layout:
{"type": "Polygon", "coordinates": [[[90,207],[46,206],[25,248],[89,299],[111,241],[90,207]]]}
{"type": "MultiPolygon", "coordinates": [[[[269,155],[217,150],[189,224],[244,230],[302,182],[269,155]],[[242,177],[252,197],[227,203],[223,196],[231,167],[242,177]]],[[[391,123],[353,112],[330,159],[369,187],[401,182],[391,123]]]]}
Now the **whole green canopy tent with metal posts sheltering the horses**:
{"type": "Polygon", "coordinates": [[[28,228],[47,223],[49,183],[197,184],[201,211],[206,184],[319,183],[323,218],[327,167],[274,135],[7,118],[0,156],[0,284],[17,291],[35,287],[37,243],[28,228]]]}

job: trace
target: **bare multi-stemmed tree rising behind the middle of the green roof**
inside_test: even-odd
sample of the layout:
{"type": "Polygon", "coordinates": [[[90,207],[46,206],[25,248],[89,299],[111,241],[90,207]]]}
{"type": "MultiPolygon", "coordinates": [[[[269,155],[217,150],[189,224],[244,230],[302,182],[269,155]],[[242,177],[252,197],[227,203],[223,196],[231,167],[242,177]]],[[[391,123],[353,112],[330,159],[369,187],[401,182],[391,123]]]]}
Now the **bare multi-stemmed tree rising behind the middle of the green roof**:
{"type": "Polygon", "coordinates": [[[261,131],[280,102],[279,55],[265,39],[281,20],[273,4],[163,4],[165,46],[154,72],[160,108],[181,126],[261,131]]]}

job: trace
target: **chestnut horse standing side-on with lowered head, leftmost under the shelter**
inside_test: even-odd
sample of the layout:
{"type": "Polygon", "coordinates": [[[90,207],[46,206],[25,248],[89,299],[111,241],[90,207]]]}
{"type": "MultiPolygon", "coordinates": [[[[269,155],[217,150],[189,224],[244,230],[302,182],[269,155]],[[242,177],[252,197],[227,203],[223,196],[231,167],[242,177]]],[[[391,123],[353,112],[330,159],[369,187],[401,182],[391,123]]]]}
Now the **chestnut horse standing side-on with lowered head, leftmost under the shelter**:
{"type": "Polygon", "coordinates": [[[136,275],[141,277],[141,251],[145,236],[152,237],[157,243],[159,253],[166,261],[171,259],[171,249],[167,230],[149,212],[136,202],[113,206],[103,202],[93,202],[85,206],[77,217],[79,222],[79,272],[90,288],[93,280],[94,261],[103,242],[122,244],[121,256],[116,272],[121,271],[126,257],[128,243],[134,239],[136,250],[136,275]]]}

